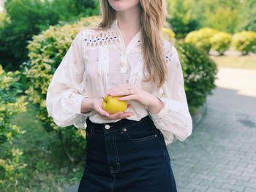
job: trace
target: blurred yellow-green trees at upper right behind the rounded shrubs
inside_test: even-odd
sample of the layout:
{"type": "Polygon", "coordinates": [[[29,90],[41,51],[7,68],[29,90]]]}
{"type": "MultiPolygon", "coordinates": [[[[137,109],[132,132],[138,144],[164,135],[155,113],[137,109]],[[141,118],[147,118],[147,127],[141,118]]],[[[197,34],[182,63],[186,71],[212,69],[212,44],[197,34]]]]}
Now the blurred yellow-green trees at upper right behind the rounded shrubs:
{"type": "Polygon", "coordinates": [[[203,27],[230,34],[256,29],[254,0],[167,0],[167,9],[178,38],[203,27]]]}

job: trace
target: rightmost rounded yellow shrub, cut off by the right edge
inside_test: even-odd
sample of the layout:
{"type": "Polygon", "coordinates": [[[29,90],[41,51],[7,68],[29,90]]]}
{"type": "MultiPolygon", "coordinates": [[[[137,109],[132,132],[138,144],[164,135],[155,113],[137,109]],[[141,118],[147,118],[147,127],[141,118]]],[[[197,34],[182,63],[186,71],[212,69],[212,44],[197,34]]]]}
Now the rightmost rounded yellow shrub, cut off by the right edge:
{"type": "Polygon", "coordinates": [[[256,50],[256,32],[242,31],[233,35],[232,44],[236,50],[240,50],[242,55],[256,50]]]}

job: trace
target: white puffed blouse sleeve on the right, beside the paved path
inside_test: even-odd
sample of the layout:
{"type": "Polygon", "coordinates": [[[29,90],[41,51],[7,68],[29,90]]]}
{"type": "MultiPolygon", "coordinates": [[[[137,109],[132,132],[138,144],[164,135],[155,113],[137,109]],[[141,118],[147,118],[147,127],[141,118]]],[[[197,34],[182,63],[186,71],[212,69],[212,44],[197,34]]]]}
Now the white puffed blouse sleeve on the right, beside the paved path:
{"type": "Polygon", "coordinates": [[[173,142],[173,136],[184,141],[192,134],[192,117],[189,113],[187,96],[184,91],[184,77],[178,52],[176,47],[170,43],[168,45],[165,59],[169,76],[162,85],[161,95],[157,96],[165,106],[157,114],[151,114],[148,111],[149,117],[163,134],[166,145],[173,142]]]}

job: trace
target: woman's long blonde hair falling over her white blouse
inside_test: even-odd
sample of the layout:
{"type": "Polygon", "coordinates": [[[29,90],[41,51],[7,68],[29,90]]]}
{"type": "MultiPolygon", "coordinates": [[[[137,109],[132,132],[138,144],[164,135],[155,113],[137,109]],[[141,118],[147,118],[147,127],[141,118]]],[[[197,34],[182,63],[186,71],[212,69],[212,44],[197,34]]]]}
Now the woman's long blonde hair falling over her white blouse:
{"type": "MultiPolygon", "coordinates": [[[[102,21],[99,28],[109,28],[116,19],[116,11],[108,0],[101,0],[102,21]]],[[[140,0],[141,43],[145,69],[149,77],[146,82],[153,81],[161,87],[166,80],[167,66],[163,57],[161,30],[165,25],[165,0],[140,0]]]]}

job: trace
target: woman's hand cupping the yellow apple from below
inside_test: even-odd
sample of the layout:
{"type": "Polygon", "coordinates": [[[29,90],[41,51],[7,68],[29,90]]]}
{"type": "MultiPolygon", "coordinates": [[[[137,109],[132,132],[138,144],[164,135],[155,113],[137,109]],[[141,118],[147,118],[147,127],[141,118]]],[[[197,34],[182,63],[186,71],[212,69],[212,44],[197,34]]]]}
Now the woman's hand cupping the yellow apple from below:
{"type": "MultiPolygon", "coordinates": [[[[103,99],[94,99],[93,110],[97,112],[99,115],[101,115],[102,118],[104,119],[116,120],[116,119],[128,118],[133,115],[132,112],[116,112],[115,114],[109,114],[108,112],[102,109],[102,101],[103,99]]],[[[131,105],[128,104],[127,107],[131,107],[131,105]]]]}

